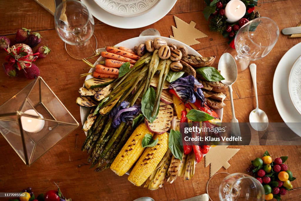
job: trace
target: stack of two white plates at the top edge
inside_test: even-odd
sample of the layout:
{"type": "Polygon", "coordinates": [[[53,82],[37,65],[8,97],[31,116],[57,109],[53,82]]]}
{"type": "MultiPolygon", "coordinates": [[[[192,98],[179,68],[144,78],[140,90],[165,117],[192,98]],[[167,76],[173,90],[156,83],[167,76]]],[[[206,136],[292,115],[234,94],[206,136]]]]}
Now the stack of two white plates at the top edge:
{"type": "Polygon", "coordinates": [[[163,18],[177,0],[81,0],[94,17],[113,27],[135,29],[163,18]]]}

